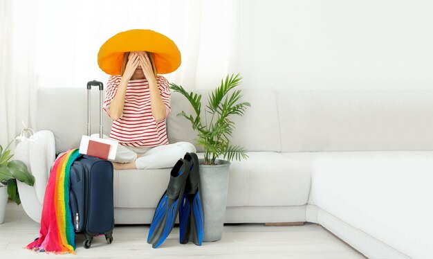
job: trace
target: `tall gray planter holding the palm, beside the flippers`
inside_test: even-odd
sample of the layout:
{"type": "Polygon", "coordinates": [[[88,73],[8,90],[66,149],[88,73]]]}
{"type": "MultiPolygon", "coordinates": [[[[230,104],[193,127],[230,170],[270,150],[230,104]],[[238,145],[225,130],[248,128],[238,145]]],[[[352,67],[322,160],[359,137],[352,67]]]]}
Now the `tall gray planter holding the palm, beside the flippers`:
{"type": "Polygon", "coordinates": [[[199,163],[205,216],[203,241],[218,241],[223,234],[230,163],[220,159],[214,166],[203,165],[204,159],[199,159],[199,163]]]}

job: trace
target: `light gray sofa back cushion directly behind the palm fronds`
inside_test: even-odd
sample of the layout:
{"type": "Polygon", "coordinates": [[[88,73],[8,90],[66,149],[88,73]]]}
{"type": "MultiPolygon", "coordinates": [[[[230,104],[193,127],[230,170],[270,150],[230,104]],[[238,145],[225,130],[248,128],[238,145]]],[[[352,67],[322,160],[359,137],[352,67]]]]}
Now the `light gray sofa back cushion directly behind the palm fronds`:
{"type": "MultiPolygon", "coordinates": [[[[189,90],[188,90],[189,91],[189,90]]],[[[204,109],[208,105],[208,96],[212,90],[196,89],[200,93],[202,118],[205,122],[204,109]]],[[[230,119],[235,123],[232,134],[232,144],[241,145],[248,151],[275,151],[281,150],[281,139],[279,133],[279,118],[275,93],[271,89],[242,89],[241,102],[250,102],[243,116],[232,116],[230,119]]],[[[188,141],[195,143],[196,132],[192,130],[189,120],[183,116],[176,116],[181,111],[195,116],[194,109],[180,93],[172,92],[172,111],[167,120],[167,135],[170,143],[188,141]]],[[[210,121],[210,116],[207,118],[210,121]]],[[[203,152],[201,146],[196,150],[203,152]]]]}

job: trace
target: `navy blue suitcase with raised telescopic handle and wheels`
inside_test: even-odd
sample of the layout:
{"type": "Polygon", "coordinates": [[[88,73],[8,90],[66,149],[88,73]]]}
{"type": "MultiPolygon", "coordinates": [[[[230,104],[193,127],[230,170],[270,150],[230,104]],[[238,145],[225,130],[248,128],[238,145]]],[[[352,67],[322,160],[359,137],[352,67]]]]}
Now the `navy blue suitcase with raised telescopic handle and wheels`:
{"type": "MultiPolygon", "coordinates": [[[[87,85],[88,94],[92,85],[100,86],[102,93],[102,82],[91,81],[87,85]]],[[[90,109],[89,103],[88,109],[90,109]]],[[[102,116],[100,118],[102,133],[101,125],[102,116]]],[[[88,134],[90,134],[89,118],[88,134]]],[[[83,247],[88,249],[93,237],[101,234],[104,234],[107,242],[111,244],[114,228],[113,164],[98,157],[82,154],[71,166],[70,179],[71,216],[75,233],[84,232],[86,235],[83,247]]]]}

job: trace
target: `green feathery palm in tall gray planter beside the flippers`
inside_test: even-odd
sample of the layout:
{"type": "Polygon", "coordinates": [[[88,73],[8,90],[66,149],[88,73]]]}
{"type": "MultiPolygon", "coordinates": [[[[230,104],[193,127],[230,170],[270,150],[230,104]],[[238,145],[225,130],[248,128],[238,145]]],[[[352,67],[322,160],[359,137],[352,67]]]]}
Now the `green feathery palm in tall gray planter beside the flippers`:
{"type": "Polygon", "coordinates": [[[195,114],[181,111],[177,116],[190,120],[192,129],[197,132],[197,143],[203,146],[204,159],[200,159],[201,193],[205,217],[203,241],[221,240],[227,201],[230,161],[246,159],[248,155],[239,145],[232,145],[230,137],[234,122],[230,116],[242,116],[249,102],[241,102],[241,90],[233,90],[241,84],[239,74],[227,75],[221,85],[209,94],[205,114],[201,114],[201,94],[188,93],[183,87],[171,83],[173,91],[181,93],[190,101],[195,114]],[[229,93],[230,92],[230,93],[229,93]],[[201,119],[204,116],[205,121],[201,119]],[[208,119],[210,118],[210,119],[208,119]],[[223,159],[219,159],[222,157],[223,159]]]}

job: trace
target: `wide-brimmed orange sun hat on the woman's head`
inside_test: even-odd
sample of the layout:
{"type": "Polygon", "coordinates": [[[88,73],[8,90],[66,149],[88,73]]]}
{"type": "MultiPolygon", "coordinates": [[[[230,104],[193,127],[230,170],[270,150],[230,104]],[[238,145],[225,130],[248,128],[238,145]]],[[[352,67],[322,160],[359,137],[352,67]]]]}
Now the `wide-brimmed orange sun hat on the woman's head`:
{"type": "Polygon", "coordinates": [[[181,52],[172,39],[154,30],[126,30],[109,38],[98,52],[98,65],[109,75],[120,75],[123,54],[132,51],[154,53],[158,73],[172,73],[181,65],[181,52]]]}

